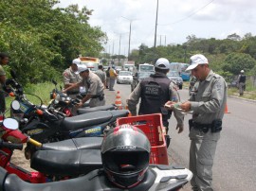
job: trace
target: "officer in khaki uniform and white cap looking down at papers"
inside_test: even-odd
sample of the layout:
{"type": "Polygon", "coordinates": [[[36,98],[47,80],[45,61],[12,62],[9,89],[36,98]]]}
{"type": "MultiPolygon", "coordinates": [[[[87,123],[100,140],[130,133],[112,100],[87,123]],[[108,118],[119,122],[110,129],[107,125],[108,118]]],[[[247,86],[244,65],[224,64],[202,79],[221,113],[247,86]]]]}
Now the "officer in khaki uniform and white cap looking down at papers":
{"type": "Polygon", "coordinates": [[[201,54],[191,57],[187,70],[192,70],[197,78],[189,101],[180,105],[185,112],[193,111],[189,120],[192,190],[210,191],[213,190],[213,159],[227,102],[227,84],[224,78],[210,70],[207,58],[201,54]]]}

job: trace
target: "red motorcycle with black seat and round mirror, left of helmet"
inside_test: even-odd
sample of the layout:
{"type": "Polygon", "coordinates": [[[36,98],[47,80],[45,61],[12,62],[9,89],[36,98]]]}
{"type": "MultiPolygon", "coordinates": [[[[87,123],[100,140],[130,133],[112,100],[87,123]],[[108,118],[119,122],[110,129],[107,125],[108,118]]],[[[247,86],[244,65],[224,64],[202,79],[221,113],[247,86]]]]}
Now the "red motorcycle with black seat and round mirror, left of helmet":
{"type": "MultiPolygon", "coordinates": [[[[62,146],[44,147],[32,140],[18,130],[18,122],[15,119],[7,118],[1,122],[0,129],[0,166],[9,173],[14,173],[26,182],[42,183],[60,181],[84,175],[92,170],[101,167],[101,151],[97,149],[75,149],[72,145],[65,143],[62,146]],[[10,141],[10,142],[9,142],[10,141]],[[14,143],[11,143],[14,142],[14,143]],[[30,142],[40,149],[35,152],[31,159],[30,166],[37,171],[29,172],[21,166],[10,163],[14,149],[22,149],[23,144],[30,142]],[[71,146],[69,148],[69,146],[71,146]],[[60,150],[60,149],[65,150],[60,150]]],[[[64,141],[65,142],[65,141],[64,141]]],[[[101,145],[99,146],[101,148],[101,145]]],[[[88,147],[89,148],[89,147],[88,147]]]]}

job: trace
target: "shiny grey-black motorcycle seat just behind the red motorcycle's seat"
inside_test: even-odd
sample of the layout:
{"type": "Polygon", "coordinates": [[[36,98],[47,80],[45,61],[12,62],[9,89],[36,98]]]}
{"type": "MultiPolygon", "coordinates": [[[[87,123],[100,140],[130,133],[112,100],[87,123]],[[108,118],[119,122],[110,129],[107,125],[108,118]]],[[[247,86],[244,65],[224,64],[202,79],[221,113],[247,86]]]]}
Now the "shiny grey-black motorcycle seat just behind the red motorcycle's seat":
{"type": "Polygon", "coordinates": [[[102,137],[81,137],[43,144],[40,150],[101,149],[102,137]]]}

